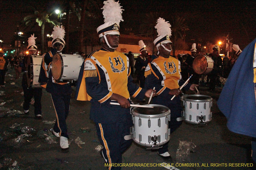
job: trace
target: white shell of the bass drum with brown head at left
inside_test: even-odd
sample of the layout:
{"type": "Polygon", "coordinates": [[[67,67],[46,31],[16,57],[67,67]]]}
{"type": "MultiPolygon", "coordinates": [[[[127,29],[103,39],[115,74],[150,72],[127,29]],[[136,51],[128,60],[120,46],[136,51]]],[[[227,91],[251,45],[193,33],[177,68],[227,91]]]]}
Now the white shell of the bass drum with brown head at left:
{"type": "MultiPolygon", "coordinates": [[[[62,76],[60,80],[77,80],[84,58],[81,55],[60,54],[62,56],[62,76]]],[[[54,71],[54,70],[52,70],[54,71]]]]}

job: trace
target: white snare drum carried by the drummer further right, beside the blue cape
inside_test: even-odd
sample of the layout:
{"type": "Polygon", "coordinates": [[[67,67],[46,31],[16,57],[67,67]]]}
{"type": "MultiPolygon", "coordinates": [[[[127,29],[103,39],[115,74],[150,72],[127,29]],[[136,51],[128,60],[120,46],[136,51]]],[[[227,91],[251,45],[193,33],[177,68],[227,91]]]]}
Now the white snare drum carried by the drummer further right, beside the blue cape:
{"type": "Polygon", "coordinates": [[[205,125],[212,120],[212,98],[205,95],[188,95],[184,97],[181,116],[183,120],[198,125],[205,125]]]}

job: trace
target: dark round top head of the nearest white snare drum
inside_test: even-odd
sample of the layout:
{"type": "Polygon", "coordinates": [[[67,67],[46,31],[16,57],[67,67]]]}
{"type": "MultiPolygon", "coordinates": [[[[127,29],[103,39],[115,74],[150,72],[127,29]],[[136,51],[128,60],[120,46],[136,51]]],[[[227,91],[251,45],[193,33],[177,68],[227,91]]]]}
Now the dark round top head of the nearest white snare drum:
{"type": "Polygon", "coordinates": [[[170,114],[170,109],[162,105],[146,105],[154,108],[135,107],[132,114],[140,117],[163,117],[170,114]]]}

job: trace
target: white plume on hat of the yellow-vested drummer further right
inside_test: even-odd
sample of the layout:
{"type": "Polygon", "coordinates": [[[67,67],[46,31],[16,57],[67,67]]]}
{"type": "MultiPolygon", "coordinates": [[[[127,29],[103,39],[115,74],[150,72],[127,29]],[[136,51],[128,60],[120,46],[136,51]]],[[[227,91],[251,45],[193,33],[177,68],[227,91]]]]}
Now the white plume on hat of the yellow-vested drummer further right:
{"type": "Polygon", "coordinates": [[[155,28],[157,29],[157,33],[158,35],[157,36],[166,36],[166,35],[169,35],[171,36],[172,35],[172,30],[171,30],[171,24],[168,23],[169,21],[166,21],[165,22],[165,19],[164,18],[158,18],[157,19],[157,24],[155,26],[155,28]]]}

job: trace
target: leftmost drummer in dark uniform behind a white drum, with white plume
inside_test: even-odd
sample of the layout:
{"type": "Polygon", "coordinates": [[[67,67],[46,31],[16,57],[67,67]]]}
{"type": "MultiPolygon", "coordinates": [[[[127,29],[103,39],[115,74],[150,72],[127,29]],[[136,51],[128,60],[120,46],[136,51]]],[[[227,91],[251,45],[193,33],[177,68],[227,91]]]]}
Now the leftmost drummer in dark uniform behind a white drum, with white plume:
{"type": "MultiPolygon", "coordinates": [[[[31,37],[28,38],[28,56],[30,55],[36,55],[37,47],[36,47],[36,37],[35,35],[31,35],[31,37]]],[[[25,60],[26,61],[26,60],[25,60]]],[[[24,92],[24,104],[23,104],[23,109],[24,109],[24,114],[29,115],[29,105],[32,97],[34,96],[35,102],[34,102],[34,113],[36,116],[36,119],[43,119],[42,117],[42,106],[41,106],[41,98],[42,98],[42,88],[32,88],[30,85],[27,85],[26,83],[26,73],[23,74],[22,77],[22,88],[24,92]]]]}

